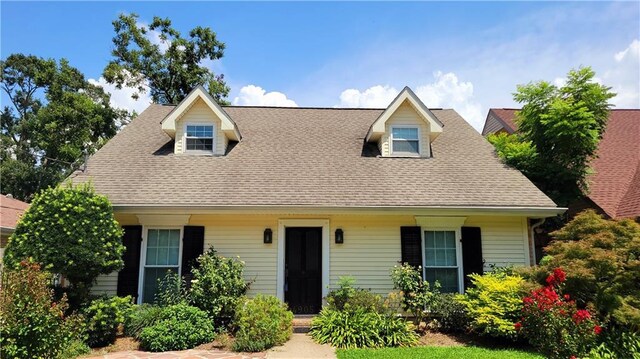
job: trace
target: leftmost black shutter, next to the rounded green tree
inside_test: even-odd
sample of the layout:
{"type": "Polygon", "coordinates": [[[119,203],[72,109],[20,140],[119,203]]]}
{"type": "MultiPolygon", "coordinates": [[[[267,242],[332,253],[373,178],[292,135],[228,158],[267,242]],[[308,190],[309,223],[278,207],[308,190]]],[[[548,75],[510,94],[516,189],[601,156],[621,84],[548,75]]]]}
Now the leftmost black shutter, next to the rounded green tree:
{"type": "Polygon", "coordinates": [[[122,260],[124,267],[118,273],[118,296],[130,295],[138,300],[138,279],[140,277],[140,246],[142,226],[123,226],[122,244],[125,246],[122,260]]]}

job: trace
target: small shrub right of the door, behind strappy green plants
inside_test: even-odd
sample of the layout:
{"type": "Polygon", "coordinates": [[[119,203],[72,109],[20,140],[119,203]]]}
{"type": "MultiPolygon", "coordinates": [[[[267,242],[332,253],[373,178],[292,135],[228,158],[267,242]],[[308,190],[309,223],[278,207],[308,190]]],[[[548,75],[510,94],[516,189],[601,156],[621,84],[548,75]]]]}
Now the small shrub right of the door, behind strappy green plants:
{"type": "Polygon", "coordinates": [[[369,290],[354,287],[356,283],[353,277],[340,277],[338,289],[327,295],[327,307],[335,310],[357,310],[384,313],[388,311],[384,300],[380,295],[369,290]]]}

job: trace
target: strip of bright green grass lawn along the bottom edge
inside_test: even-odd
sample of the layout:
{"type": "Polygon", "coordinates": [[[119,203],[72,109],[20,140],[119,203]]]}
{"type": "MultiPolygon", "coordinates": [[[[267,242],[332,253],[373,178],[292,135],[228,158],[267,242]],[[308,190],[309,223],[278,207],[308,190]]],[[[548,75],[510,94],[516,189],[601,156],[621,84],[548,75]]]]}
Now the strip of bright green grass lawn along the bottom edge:
{"type": "Polygon", "coordinates": [[[542,355],[513,349],[479,347],[414,347],[384,349],[339,349],[338,359],[544,359],[542,355]]]}

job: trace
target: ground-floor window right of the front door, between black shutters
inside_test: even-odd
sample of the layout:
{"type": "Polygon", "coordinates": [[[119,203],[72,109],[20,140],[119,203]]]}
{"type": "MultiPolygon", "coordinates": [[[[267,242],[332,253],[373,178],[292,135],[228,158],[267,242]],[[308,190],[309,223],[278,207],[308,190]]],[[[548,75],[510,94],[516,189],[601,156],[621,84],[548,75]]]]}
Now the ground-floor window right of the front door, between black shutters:
{"type": "Polygon", "coordinates": [[[455,231],[424,232],[425,279],[434,284],[438,281],[444,293],[457,293],[458,253],[455,231]]]}

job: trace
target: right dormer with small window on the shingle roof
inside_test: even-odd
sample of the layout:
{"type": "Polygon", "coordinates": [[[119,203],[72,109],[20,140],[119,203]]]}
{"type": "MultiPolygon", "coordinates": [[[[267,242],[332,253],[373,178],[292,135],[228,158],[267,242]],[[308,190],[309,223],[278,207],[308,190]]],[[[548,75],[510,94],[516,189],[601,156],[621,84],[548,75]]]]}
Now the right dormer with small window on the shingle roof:
{"type": "Polygon", "coordinates": [[[431,157],[431,143],[443,124],[405,87],[369,128],[366,141],[377,143],[383,157],[431,157]]]}

